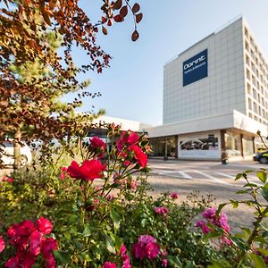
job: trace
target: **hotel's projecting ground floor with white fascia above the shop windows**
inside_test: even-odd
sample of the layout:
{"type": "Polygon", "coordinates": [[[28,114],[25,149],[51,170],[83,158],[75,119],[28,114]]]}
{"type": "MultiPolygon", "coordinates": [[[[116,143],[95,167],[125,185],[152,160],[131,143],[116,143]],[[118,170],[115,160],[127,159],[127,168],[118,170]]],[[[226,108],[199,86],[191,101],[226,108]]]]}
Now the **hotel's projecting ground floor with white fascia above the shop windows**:
{"type": "Polygon", "coordinates": [[[245,160],[264,143],[267,126],[233,110],[147,130],[151,156],[197,160],[245,160]]]}

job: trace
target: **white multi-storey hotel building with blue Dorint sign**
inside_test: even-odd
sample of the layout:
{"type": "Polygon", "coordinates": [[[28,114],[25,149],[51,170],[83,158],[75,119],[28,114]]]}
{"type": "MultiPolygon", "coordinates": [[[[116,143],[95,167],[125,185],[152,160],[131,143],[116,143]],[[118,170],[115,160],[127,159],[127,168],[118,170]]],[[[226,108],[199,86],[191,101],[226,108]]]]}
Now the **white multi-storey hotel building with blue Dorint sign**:
{"type": "Polygon", "coordinates": [[[163,125],[147,131],[174,137],[179,158],[245,158],[267,125],[268,64],[240,17],[164,65],[163,125]]]}

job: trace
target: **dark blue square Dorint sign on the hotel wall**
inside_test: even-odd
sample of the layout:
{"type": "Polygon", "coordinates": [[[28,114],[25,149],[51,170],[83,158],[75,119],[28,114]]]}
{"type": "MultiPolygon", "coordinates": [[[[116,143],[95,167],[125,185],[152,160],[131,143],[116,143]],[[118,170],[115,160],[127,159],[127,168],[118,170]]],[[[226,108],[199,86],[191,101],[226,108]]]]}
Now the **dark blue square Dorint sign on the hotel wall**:
{"type": "Polygon", "coordinates": [[[182,64],[183,87],[207,77],[207,49],[182,64]]]}

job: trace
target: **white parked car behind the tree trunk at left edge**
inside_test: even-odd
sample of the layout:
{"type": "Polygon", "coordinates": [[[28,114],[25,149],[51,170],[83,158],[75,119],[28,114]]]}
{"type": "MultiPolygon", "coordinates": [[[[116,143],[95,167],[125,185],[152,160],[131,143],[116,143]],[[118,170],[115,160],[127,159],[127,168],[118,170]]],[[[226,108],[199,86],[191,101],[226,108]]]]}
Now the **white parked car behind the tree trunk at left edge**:
{"type": "MultiPolygon", "coordinates": [[[[4,165],[12,165],[14,163],[14,143],[13,141],[4,141],[0,143],[0,159],[4,165]]],[[[21,142],[21,166],[31,163],[32,155],[29,146],[21,142]]]]}

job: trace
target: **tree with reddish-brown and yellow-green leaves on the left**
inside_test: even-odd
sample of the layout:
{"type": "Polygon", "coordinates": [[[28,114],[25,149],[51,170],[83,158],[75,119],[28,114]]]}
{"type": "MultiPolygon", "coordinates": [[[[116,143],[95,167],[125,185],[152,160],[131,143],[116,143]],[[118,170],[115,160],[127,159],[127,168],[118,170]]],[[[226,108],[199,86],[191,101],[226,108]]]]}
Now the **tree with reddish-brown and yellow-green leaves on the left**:
{"type": "MultiPolygon", "coordinates": [[[[130,11],[135,18],[131,38],[136,41],[142,13],[138,13],[137,3],[130,6],[129,0],[103,0],[103,16],[92,23],[78,0],[0,0],[1,3],[0,141],[7,133],[13,133],[18,155],[23,133],[28,138],[48,140],[88,128],[85,116],[78,119],[73,111],[81,105],[82,96],[99,93],[83,91],[71,104],[60,103],[58,98],[88,86],[88,82],[77,80],[79,72],[101,72],[109,67],[110,55],[96,44],[98,29],[106,35],[107,26],[112,26],[113,21],[124,21],[130,11]],[[63,47],[63,58],[56,46],[63,47]],[[84,49],[87,65],[74,65],[73,46],[84,49]]],[[[91,117],[86,115],[87,121],[91,117]]]]}

